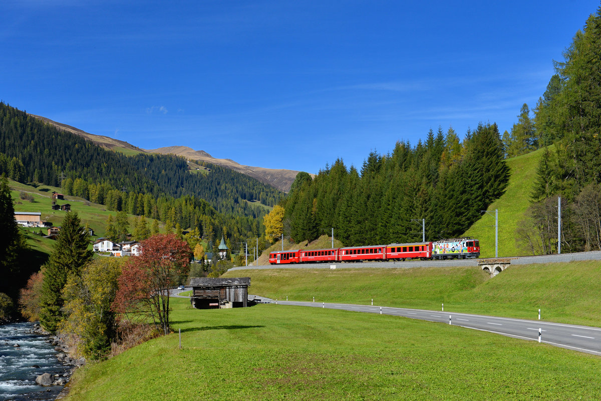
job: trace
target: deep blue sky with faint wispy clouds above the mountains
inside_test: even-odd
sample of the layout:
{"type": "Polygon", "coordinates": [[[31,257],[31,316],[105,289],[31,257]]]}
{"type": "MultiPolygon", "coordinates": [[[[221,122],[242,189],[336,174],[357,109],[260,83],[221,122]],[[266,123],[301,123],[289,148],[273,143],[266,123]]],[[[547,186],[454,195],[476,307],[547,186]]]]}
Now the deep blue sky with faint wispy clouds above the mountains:
{"type": "Polygon", "coordinates": [[[317,173],[510,130],[598,0],[4,0],[0,99],[141,148],[317,173]]]}

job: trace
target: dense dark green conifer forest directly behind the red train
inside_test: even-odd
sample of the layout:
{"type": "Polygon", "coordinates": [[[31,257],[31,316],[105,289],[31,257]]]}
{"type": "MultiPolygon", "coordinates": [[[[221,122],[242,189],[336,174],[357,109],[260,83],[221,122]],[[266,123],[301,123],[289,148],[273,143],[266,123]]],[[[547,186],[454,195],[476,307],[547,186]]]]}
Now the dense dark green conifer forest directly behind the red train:
{"type": "Polygon", "coordinates": [[[331,228],[344,245],[414,242],[426,219],[427,239],[459,236],[508,179],[496,124],[479,124],[463,142],[453,129],[430,130],[414,147],[398,142],[390,155],[370,153],[361,171],[339,159],[314,180],[299,174],[282,204],[284,230],[296,242],[331,228]]]}

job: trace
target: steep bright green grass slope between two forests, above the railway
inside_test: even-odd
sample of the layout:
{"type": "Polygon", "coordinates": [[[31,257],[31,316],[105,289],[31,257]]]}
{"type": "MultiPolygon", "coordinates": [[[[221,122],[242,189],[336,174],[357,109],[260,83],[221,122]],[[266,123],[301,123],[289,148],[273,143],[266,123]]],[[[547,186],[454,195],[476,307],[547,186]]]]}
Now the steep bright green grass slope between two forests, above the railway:
{"type": "Polygon", "coordinates": [[[495,209],[499,213],[498,254],[502,256],[523,255],[516,241],[516,229],[530,206],[530,194],[534,186],[536,169],[544,149],[507,160],[511,168],[511,177],[505,194],[489,206],[492,216],[484,213],[466,231],[466,236],[480,240],[481,257],[495,256],[495,209]]]}

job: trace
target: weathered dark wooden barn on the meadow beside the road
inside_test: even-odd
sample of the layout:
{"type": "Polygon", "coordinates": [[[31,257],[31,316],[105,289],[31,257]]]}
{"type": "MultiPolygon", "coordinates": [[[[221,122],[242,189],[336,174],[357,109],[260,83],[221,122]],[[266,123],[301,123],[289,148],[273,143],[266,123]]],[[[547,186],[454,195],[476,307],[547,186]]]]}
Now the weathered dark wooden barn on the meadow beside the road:
{"type": "Polygon", "coordinates": [[[246,307],[250,285],[250,277],[192,278],[192,306],[197,309],[246,307]]]}

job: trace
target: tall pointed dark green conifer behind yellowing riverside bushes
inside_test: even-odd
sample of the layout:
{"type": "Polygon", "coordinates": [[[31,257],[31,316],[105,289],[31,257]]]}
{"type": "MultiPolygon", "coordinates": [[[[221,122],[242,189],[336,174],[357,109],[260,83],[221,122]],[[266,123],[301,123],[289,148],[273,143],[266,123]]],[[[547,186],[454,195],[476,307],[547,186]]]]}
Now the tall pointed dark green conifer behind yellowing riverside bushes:
{"type": "Polygon", "coordinates": [[[88,249],[90,235],[81,225],[76,212],[67,212],[50,259],[44,266],[44,281],[40,299],[40,321],[50,332],[63,319],[63,287],[69,275],[81,274],[93,252],[88,249]]]}

